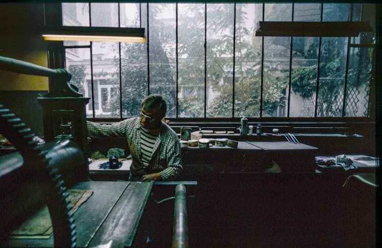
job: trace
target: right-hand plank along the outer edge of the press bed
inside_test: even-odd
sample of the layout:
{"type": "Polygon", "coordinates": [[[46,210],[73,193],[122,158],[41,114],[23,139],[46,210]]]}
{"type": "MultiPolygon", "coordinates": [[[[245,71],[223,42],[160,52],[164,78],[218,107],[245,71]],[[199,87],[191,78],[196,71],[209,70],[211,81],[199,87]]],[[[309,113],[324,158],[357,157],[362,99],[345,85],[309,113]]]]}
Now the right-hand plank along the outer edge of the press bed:
{"type": "Polygon", "coordinates": [[[131,182],[90,242],[129,247],[134,239],[154,182],[131,182]]]}

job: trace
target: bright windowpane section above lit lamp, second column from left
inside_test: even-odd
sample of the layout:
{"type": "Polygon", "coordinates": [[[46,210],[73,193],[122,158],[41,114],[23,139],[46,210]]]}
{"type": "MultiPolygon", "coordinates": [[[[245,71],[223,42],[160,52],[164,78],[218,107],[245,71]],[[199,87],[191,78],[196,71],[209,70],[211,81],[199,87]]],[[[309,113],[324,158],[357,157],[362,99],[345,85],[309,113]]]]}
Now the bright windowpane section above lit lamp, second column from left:
{"type": "Polygon", "coordinates": [[[91,3],[92,27],[118,27],[117,3],[91,3]]]}

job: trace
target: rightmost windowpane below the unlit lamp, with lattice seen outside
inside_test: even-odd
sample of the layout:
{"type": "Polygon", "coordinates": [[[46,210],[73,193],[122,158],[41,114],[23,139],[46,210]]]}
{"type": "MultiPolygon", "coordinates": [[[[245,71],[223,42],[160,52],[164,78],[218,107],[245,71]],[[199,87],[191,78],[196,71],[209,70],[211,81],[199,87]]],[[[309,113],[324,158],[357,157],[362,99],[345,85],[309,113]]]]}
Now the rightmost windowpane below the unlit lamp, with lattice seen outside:
{"type": "Polygon", "coordinates": [[[345,116],[368,116],[372,54],[372,48],[350,48],[345,116]]]}

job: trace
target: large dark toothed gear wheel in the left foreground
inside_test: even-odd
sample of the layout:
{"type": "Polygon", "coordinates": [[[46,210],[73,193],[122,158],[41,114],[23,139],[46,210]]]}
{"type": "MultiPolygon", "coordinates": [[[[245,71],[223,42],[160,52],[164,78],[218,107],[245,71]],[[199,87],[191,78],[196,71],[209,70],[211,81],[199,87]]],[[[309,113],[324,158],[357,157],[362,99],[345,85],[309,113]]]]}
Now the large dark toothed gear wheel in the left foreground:
{"type": "Polygon", "coordinates": [[[52,221],[54,246],[75,247],[74,218],[73,214],[69,212],[65,182],[58,169],[49,164],[50,158],[47,156],[49,152],[47,147],[51,148],[51,142],[39,145],[38,141],[33,139],[36,135],[31,129],[1,104],[0,133],[6,134],[6,138],[23,156],[23,169],[42,175],[41,187],[46,195],[46,203],[52,221]]]}

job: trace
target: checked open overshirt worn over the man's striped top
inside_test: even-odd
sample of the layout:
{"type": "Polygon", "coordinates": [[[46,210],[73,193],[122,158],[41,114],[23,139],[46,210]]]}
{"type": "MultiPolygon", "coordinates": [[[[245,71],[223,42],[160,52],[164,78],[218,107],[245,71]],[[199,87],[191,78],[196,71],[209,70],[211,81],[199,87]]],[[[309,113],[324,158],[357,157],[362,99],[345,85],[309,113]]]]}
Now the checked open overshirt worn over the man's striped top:
{"type": "MultiPolygon", "coordinates": [[[[95,137],[125,137],[131,153],[130,171],[133,175],[142,176],[159,172],[163,181],[173,180],[182,171],[180,142],[176,133],[161,122],[158,137],[155,139],[151,160],[145,167],[141,151],[140,118],[129,118],[111,125],[87,121],[88,136],[95,137]]],[[[128,152],[128,151],[127,151],[128,152]]]]}

